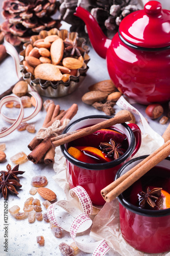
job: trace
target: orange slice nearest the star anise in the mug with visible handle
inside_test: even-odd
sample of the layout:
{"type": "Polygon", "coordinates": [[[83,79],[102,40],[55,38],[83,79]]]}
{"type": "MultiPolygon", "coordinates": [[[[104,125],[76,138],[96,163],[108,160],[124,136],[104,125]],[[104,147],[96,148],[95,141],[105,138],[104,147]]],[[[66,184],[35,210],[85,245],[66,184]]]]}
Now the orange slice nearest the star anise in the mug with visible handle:
{"type": "Polygon", "coordinates": [[[81,151],[84,151],[86,154],[89,154],[89,155],[91,155],[93,157],[101,159],[101,160],[103,160],[105,162],[112,161],[111,159],[106,157],[106,154],[104,154],[101,150],[99,150],[96,147],[92,147],[92,146],[77,146],[76,148],[78,148],[81,151]]]}

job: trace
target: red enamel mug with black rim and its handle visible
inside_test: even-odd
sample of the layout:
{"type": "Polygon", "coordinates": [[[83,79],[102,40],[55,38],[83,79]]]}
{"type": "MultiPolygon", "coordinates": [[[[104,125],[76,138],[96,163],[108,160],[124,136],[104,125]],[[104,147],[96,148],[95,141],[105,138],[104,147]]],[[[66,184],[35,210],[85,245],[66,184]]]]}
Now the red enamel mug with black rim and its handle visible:
{"type": "MultiPolygon", "coordinates": [[[[110,118],[112,117],[105,115],[82,117],[70,123],[63,133],[79,130],[82,127],[91,126],[110,118]]],[[[82,162],[67,152],[67,144],[61,145],[61,151],[66,158],[70,189],[78,185],[82,186],[94,205],[104,205],[105,200],[101,196],[101,189],[114,180],[117,170],[132,158],[141,144],[141,132],[136,124],[116,124],[114,128],[127,136],[129,146],[124,155],[111,162],[100,164],[82,162]]]]}

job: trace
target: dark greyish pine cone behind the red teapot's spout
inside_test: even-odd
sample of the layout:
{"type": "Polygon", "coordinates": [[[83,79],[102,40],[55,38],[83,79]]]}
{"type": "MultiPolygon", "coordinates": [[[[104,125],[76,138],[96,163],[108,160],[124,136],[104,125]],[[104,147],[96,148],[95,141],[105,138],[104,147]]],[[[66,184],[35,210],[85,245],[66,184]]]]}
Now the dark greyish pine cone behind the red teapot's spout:
{"type": "Polygon", "coordinates": [[[122,19],[129,13],[138,10],[138,0],[63,0],[60,6],[61,18],[71,24],[71,31],[78,32],[80,36],[87,38],[84,22],[74,16],[77,4],[91,12],[103,32],[108,37],[118,31],[122,19]]]}

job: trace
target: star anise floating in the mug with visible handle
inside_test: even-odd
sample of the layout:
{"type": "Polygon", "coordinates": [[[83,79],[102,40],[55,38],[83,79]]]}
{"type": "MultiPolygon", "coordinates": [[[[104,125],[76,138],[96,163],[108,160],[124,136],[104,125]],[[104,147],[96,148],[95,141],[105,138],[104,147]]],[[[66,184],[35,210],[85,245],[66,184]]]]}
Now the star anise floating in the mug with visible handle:
{"type": "Polygon", "coordinates": [[[103,152],[107,154],[106,155],[107,157],[113,156],[115,160],[120,156],[122,156],[126,151],[124,148],[121,148],[122,144],[120,143],[116,144],[116,142],[113,139],[110,139],[109,143],[101,142],[100,146],[103,152]]]}

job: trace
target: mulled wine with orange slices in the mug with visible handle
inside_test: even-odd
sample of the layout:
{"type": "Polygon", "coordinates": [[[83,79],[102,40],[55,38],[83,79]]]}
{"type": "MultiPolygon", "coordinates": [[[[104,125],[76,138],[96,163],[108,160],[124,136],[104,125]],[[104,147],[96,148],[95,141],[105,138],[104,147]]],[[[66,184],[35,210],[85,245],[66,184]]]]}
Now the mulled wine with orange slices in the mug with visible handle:
{"type": "Polygon", "coordinates": [[[128,147],[127,136],[109,128],[69,142],[67,151],[82,162],[98,164],[118,159],[128,147]]]}

